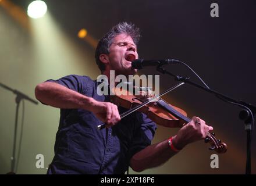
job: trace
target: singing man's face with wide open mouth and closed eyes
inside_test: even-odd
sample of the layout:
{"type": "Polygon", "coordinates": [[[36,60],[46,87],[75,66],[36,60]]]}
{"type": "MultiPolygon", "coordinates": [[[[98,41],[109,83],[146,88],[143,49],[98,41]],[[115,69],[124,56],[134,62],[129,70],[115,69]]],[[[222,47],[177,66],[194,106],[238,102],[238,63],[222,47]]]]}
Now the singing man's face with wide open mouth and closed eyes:
{"type": "Polygon", "coordinates": [[[136,73],[137,70],[131,68],[131,62],[138,59],[138,53],[130,35],[119,34],[113,38],[108,56],[109,67],[115,70],[115,74],[127,76],[136,73]]]}

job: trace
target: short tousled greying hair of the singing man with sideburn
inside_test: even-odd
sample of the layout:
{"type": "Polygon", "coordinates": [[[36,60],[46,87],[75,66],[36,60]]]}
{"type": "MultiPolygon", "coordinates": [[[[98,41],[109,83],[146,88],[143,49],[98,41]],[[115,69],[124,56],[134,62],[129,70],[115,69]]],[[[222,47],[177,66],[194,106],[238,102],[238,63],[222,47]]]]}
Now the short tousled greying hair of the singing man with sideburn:
{"type": "Polygon", "coordinates": [[[109,54],[109,47],[112,44],[113,38],[123,33],[130,35],[130,37],[133,39],[134,44],[136,45],[138,44],[138,41],[140,41],[140,29],[137,28],[134,24],[128,24],[126,22],[123,22],[118,23],[116,26],[113,26],[111,30],[106,33],[104,37],[101,38],[101,40],[99,40],[95,51],[95,60],[101,72],[105,70],[105,65],[99,59],[99,55],[101,55],[102,53],[109,54]]]}

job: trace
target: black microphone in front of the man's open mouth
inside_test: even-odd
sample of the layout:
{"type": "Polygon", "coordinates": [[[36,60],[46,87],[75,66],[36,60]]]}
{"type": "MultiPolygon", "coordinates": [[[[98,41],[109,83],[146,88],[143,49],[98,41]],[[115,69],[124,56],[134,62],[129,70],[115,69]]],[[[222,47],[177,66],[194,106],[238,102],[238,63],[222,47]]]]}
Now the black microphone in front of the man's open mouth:
{"type": "Polygon", "coordinates": [[[172,65],[180,63],[179,60],[176,59],[162,59],[162,60],[144,60],[144,59],[136,59],[131,62],[131,67],[133,69],[143,69],[145,66],[162,66],[162,65],[172,65]]]}

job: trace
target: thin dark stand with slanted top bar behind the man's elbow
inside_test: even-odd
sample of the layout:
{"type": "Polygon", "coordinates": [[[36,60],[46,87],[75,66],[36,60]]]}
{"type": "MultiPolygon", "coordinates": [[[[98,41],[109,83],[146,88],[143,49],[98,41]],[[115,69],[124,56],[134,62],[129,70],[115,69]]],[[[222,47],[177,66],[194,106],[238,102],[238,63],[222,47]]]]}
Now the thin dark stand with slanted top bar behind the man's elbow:
{"type": "Polygon", "coordinates": [[[38,104],[37,101],[35,101],[34,99],[29,98],[29,96],[23,94],[20,91],[17,90],[13,90],[12,88],[0,83],[0,86],[5,88],[6,90],[12,91],[13,94],[16,94],[16,98],[15,98],[15,102],[16,102],[16,113],[15,113],[15,130],[14,130],[14,140],[13,140],[13,151],[12,151],[12,157],[10,158],[11,160],[11,167],[10,167],[10,172],[7,174],[15,174],[15,151],[16,151],[16,137],[17,137],[17,121],[18,121],[18,116],[19,116],[19,105],[20,105],[20,101],[22,101],[22,99],[27,99],[28,101],[34,103],[35,105],[38,104]]]}

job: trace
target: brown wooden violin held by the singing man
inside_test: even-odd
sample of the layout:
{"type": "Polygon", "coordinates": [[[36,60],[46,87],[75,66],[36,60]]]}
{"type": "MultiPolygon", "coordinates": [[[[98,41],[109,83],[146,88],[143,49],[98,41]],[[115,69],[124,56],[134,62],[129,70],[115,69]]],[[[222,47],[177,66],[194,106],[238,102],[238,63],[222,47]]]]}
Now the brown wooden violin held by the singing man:
{"type": "MultiPolygon", "coordinates": [[[[117,106],[129,109],[127,112],[120,115],[121,119],[131,112],[138,110],[148,116],[155,123],[164,127],[183,127],[191,121],[187,117],[187,113],[177,108],[176,106],[170,105],[168,102],[160,98],[155,98],[154,94],[151,94],[150,88],[147,87],[136,87],[139,91],[138,94],[129,94],[129,91],[123,87],[113,87],[112,92],[115,95],[111,96],[111,102],[117,106]],[[153,101],[154,100],[154,101],[153,101]]],[[[136,90],[134,88],[134,90],[136,90]]],[[[133,91],[134,91],[133,90],[133,91]]],[[[101,129],[104,125],[99,125],[101,129]]],[[[225,153],[227,151],[227,145],[221,140],[215,138],[215,133],[207,134],[205,142],[209,142],[211,145],[209,149],[216,151],[217,153],[225,153]]]]}

